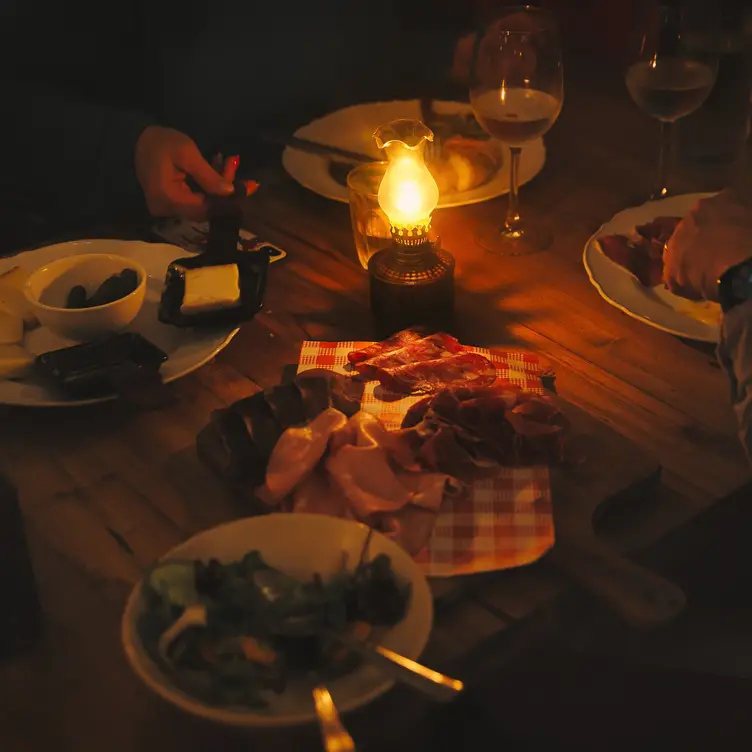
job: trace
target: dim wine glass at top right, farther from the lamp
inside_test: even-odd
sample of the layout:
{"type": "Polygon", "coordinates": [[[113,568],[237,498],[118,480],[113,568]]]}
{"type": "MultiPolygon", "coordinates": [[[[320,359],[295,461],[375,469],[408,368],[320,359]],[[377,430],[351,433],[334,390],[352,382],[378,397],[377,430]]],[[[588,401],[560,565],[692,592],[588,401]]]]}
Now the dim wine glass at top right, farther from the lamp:
{"type": "MultiPolygon", "coordinates": [[[[638,107],[661,123],[658,182],[650,198],[668,195],[674,123],[707,98],[718,74],[717,58],[692,45],[697,31],[676,3],[648,7],[637,26],[627,66],[627,89],[638,107]]],[[[706,19],[708,20],[708,19],[706,19]]]]}

